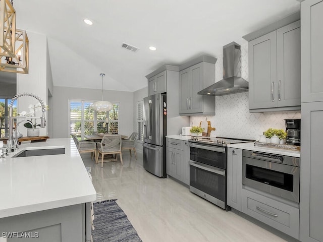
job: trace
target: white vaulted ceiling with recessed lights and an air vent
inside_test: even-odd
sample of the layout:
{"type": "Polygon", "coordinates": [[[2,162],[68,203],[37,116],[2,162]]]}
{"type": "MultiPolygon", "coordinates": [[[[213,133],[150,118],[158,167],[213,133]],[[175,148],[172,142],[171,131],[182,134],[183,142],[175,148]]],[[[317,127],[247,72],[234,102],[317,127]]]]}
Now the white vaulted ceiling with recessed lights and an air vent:
{"type": "MultiPolygon", "coordinates": [[[[14,0],[17,27],[47,36],[55,86],[136,91],[181,65],[300,9],[296,0],[14,0]],[[83,19],[93,25],[86,25],[83,19]],[[139,47],[137,52],[122,43],[139,47]],[[149,50],[155,46],[155,51],[149,50]]],[[[32,53],[31,53],[32,54],[32,53]]]]}

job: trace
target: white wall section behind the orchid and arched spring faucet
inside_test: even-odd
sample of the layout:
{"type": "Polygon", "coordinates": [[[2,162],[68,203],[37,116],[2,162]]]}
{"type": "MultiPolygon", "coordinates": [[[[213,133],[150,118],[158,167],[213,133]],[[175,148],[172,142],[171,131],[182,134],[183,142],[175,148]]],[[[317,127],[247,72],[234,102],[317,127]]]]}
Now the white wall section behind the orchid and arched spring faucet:
{"type": "MultiPolygon", "coordinates": [[[[47,37],[43,34],[27,31],[29,38],[29,74],[17,74],[17,93],[28,92],[37,95],[45,103],[47,103],[47,85],[51,82],[50,64],[47,57],[47,37]],[[50,75],[47,75],[47,72],[50,75]]],[[[17,100],[18,112],[29,112],[29,104],[37,104],[38,101],[29,96],[20,97],[17,100]]],[[[36,116],[41,116],[41,111],[36,113],[36,116]]],[[[47,112],[45,112],[47,120],[47,112]]],[[[40,119],[37,120],[40,124],[40,119]]],[[[20,125],[20,132],[26,136],[26,129],[20,125]]],[[[40,136],[47,135],[47,127],[40,129],[40,136]]]]}

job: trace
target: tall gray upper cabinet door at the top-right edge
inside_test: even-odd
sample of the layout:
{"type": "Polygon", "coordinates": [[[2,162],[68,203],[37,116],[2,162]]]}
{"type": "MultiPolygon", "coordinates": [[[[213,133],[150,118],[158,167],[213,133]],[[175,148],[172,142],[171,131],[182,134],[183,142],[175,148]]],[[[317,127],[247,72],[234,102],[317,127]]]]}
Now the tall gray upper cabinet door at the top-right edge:
{"type": "Polygon", "coordinates": [[[323,1],[306,0],[302,14],[302,102],[323,101],[323,1]]]}

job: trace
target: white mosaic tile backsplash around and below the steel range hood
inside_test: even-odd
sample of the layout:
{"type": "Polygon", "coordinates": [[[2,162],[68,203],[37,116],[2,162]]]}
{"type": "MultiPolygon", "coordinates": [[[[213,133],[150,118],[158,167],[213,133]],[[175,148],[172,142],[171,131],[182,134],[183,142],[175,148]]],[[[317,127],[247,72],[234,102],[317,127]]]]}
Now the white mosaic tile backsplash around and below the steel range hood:
{"type": "MultiPolygon", "coordinates": [[[[216,82],[223,78],[223,56],[216,63],[216,82]]],[[[241,49],[241,76],[248,81],[248,44],[241,49]]],[[[285,118],[300,118],[300,111],[249,112],[248,92],[216,96],[216,115],[191,116],[191,126],[199,126],[201,120],[208,120],[216,131],[211,136],[259,140],[268,128],[284,129],[285,118]]]]}

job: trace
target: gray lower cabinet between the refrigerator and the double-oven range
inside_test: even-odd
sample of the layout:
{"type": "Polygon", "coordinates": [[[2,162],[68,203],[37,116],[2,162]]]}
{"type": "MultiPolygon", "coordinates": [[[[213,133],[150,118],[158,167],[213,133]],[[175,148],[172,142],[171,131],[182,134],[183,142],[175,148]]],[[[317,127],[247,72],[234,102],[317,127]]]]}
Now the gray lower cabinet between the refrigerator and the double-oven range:
{"type": "Polygon", "coordinates": [[[187,161],[188,142],[167,138],[166,171],[167,174],[189,185],[189,167],[187,161]]]}

